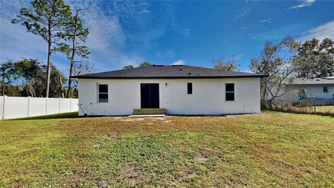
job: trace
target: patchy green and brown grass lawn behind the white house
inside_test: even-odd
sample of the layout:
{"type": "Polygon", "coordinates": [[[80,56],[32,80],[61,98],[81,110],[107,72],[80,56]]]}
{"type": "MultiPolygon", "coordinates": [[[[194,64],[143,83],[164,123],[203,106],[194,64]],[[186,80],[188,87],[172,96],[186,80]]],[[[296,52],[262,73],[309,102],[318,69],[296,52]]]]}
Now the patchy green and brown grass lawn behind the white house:
{"type": "Polygon", "coordinates": [[[0,121],[0,187],[333,187],[334,118],[0,121]]]}

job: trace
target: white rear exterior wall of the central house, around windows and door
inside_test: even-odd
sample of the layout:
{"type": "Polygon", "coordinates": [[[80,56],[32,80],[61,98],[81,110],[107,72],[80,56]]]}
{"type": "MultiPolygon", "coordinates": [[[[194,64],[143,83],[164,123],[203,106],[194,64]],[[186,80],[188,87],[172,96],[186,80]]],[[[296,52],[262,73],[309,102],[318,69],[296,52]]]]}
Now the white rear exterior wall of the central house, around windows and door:
{"type": "Polygon", "coordinates": [[[141,108],[141,83],[159,84],[160,108],[167,114],[260,113],[260,78],[79,79],[79,104],[88,116],[132,114],[141,108]],[[192,95],[186,94],[190,82],[192,95]],[[225,83],[234,83],[235,101],[225,101],[225,83]],[[97,102],[97,84],[108,84],[108,103],[97,102]]]}

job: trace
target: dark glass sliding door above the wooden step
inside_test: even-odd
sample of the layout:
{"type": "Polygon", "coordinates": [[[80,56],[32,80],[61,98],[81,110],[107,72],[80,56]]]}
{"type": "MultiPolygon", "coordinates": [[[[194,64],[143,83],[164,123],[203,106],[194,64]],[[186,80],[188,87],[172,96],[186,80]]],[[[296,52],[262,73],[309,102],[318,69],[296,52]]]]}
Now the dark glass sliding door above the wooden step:
{"type": "Polygon", "coordinates": [[[159,84],[141,84],[141,108],[159,109],[159,84]]]}

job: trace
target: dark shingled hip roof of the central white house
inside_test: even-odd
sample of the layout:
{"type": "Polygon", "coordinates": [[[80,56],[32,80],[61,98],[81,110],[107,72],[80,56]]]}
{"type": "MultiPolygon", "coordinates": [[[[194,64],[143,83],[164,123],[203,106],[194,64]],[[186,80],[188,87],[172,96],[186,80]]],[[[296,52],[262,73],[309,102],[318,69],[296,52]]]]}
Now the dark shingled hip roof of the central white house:
{"type": "Polygon", "coordinates": [[[126,70],[79,75],[72,78],[79,79],[185,79],[185,78],[239,78],[239,77],[267,77],[248,72],[234,72],[200,68],[189,65],[152,65],[126,70]]]}

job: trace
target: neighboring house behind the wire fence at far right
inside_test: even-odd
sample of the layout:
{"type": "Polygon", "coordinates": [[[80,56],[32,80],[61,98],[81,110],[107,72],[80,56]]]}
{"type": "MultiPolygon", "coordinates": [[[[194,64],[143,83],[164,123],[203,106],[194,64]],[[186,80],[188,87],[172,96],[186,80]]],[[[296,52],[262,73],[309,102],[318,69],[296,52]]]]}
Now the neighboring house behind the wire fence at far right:
{"type": "Polygon", "coordinates": [[[294,96],[295,101],[311,98],[326,104],[334,99],[334,78],[295,78],[289,86],[299,91],[294,96]]]}

